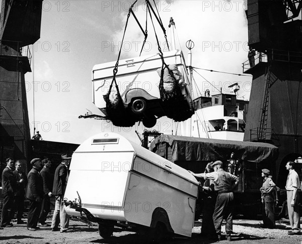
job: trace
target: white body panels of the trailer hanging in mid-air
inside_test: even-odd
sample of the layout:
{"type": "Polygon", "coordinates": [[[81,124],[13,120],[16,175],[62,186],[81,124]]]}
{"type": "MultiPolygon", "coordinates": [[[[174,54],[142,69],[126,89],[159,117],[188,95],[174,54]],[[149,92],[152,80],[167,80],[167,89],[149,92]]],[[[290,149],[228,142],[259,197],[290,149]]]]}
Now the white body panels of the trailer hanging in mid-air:
{"type": "MultiPolygon", "coordinates": [[[[186,86],[182,88],[182,93],[191,102],[191,84],[188,80],[183,54],[179,50],[164,52],[166,64],[176,64],[184,76],[186,86]]],[[[97,64],[92,69],[93,81],[93,103],[98,108],[105,108],[106,102],[103,95],[108,93],[113,78],[113,69],[116,62],[97,64]]],[[[158,53],[141,57],[123,59],[119,61],[116,82],[125,102],[125,94],[128,90],[142,88],[150,95],[160,98],[159,83],[160,76],[157,69],[162,67],[162,60],[158,53]]],[[[116,91],[113,83],[112,91],[116,91]]]]}

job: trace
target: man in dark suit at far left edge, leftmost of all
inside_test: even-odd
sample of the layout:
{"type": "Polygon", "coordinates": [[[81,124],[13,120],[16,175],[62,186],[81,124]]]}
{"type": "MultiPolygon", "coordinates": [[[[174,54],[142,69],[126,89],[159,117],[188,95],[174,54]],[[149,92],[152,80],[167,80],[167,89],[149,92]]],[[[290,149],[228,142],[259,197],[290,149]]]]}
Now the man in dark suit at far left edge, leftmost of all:
{"type": "Polygon", "coordinates": [[[1,214],[1,227],[12,227],[12,212],[14,206],[14,198],[16,194],[16,178],[13,174],[14,159],[7,158],[7,166],[2,172],[2,214],[1,214]]]}

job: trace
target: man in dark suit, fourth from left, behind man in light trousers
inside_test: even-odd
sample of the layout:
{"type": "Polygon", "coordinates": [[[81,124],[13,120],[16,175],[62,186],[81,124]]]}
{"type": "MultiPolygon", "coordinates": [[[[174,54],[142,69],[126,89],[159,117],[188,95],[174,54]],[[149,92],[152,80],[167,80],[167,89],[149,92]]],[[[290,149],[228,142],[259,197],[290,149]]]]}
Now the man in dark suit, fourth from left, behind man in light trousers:
{"type": "Polygon", "coordinates": [[[51,161],[49,159],[43,159],[42,164],[44,165],[40,174],[43,179],[43,200],[42,200],[42,208],[39,216],[39,223],[42,226],[49,226],[49,224],[45,223],[47,214],[50,212],[50,197],[52,195],[52,177],[50,174],[51,161]]]}

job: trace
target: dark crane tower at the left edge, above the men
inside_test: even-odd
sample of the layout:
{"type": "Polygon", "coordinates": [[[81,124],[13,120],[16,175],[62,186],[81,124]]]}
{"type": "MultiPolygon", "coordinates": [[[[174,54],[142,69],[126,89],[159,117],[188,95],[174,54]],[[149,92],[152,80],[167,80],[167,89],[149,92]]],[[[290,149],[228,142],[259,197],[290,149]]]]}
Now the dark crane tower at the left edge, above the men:
{"type": "Polygon", "coordinates": [[[31,53],[25,47],[40,38],[42,0],[1,0],[0,9],[0,161],[29,164],[24,75],[31,72],[31,53]]]}

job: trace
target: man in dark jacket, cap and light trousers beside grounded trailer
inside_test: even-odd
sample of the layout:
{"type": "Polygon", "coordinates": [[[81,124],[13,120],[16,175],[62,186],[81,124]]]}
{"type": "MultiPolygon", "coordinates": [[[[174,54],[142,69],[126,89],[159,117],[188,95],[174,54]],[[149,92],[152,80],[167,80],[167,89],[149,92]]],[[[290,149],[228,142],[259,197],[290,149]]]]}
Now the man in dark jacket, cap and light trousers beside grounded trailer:
{"type": "Polygon", "coordinates": [[[63,197],[68,180],[68,165],[70,157],[67,154],[61,155],[62,162],[58,165],[54,173],[52,194],[55,196],[55,206],[51,222],[51,230],[58,231],[60,223],[60,232],[66,232],[69,227],[69,216],[64,209],[63,197]]]}

